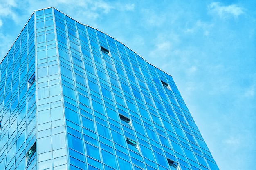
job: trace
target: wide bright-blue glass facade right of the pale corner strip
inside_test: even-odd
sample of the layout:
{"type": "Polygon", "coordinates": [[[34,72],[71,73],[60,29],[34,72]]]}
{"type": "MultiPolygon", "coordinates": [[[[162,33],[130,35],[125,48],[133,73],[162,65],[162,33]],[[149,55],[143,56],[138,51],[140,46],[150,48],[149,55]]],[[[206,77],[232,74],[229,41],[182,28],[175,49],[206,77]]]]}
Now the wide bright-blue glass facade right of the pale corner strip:
{"type": "Polygon", "coordinates": [[[218,170],[170,75],[54,13],[70,168],[218,170]]]}

